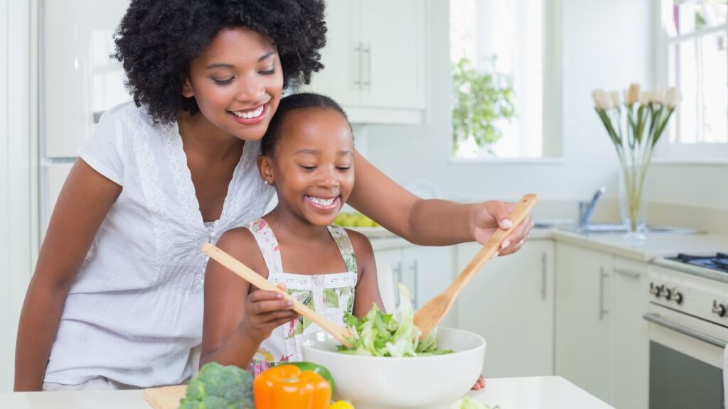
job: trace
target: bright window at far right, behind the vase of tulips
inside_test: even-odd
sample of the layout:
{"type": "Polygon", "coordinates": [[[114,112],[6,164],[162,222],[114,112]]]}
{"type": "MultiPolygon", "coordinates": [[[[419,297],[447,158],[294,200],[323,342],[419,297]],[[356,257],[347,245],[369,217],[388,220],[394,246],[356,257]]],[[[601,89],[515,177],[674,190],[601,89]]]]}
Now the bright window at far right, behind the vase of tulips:
{"type": "Polygon", "coordinates": [[[657,67],[683,101],[660,156],[728,158],[728,0],[663,0],[657,67]]]}

